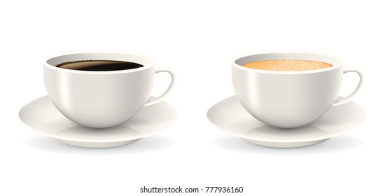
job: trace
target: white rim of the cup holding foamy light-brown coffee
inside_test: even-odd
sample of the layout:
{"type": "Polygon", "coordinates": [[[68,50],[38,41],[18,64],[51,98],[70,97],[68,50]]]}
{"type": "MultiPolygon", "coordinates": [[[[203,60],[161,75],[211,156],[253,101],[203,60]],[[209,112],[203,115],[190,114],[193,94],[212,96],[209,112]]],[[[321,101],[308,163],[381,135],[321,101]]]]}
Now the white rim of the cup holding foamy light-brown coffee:
{"type": "MultiPolygon", "coordinates": [[[[276,59],[277,60],[277,59],[276,59]]],[[[328,63],[328,62],[327,62],[328,63]]],[[[331,55],[324,52],[307,52],[307,51],[267,51],[267,52],[251,52],[244,55],[240,55],[235,57],[235,59],[232,61],[232,66],[241,69],[243,71],[252,71],[256,73],[270,73],[270,74],[281,74],[281,75],[292,75],[292,74],[307,74],[307,73],[319,73],[324,71],[331,71],[333,69],[337,69],[339,67],[342,67],[342,59],[340,57],[337,57],[335,55],[331,55]],[[256,55],[316,55],[316,56],[322,56],[322,57],[329,57],[335,61],[335,63],[329,63],[333,66],[323,68],[323,69],[314,69],[314,70],[305,70],[305,71],[272,71],[272,70],[262,70],[262,69],[252,69],[248,67],[244,67],[240,64],[237,64],[237,61],[239,59],[243,59],[246,57],[256,56],[256,55]]]]}

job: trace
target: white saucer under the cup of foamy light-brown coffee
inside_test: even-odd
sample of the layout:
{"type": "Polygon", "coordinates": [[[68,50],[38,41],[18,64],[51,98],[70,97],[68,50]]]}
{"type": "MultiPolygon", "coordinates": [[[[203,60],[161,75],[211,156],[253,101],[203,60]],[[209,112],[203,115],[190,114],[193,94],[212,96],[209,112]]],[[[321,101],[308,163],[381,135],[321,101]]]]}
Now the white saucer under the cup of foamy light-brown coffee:
{"type": "Polygon", "coordinates": [[[309,125],[281,129],[253,118],[237,97],[233,96],[211,106],[207,111],[207,118],[225,132],[259,146],[300,148],[319,144],[353,130],[365,119],[365,111],[355,102],[348,102],[333,106],[321,118],[309,125]]]}

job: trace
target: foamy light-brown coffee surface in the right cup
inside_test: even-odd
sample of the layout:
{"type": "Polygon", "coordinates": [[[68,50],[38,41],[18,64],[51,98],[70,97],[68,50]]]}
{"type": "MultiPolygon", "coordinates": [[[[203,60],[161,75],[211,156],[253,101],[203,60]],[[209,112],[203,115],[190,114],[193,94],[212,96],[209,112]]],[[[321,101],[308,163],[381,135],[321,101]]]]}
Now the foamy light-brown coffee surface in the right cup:
{"type": "Polygon", "coordinates": [[[326,62],[316,62],[310,60],[293,60],[293,59],[284,59],[284,60],[264,60],[258,62],[249,62],[243,66],[261,69],[261,70],[270,70],[270,71],[306,71],[306,70],[315,70],[323,69],[330,66],[326,62]]]}

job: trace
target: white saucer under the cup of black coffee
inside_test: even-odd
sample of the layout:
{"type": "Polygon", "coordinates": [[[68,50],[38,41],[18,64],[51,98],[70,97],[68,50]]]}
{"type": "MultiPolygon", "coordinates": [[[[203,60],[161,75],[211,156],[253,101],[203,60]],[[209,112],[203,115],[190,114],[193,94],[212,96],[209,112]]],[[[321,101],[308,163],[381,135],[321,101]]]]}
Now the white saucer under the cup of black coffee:
{"type": "Polygon", "coordinates": [[[176,121],[176,110],[167,102],[145,106],[133,118],[115,127],[94,129],[78,125],[58,111],[48,96],[22,107],[25,125],[64,144],[85,148],[123,146],[165,130],[176,121]]]}

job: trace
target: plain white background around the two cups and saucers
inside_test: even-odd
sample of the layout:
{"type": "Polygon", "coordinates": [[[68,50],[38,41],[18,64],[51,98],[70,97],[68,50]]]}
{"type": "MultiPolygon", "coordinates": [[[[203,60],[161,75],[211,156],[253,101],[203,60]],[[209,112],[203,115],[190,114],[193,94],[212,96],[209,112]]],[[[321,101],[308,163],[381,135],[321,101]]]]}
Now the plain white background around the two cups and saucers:
{"type": "MultiPolygon", "coordinates": [[[[382,4],[379,1],[1,1],[0,195],[146,195],[146,186],[242,186],[242,194],[382,195],[382,4]],[[78,50],[141,52],[179,78],[165,132],[118,148],[61,144],[22,125],[46,95],[43,60],[78,50]],[[358,66],[365,123],[307,148],[274,149],[207,120],[234,95],[230,63],[246,52],[313,50],[358,66]]],[[[358,78],[344,77],[342,94],[358,78]]],[[[155,93],[169,82],[156,78],[155,93]]],[[[182,194],[147,194],[182,195],[182,194]]],[[[187,195],[187,194],[184,194],[187,195]]],[[[189,195],[207,195],[195,193],[189,195]]]]}

